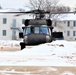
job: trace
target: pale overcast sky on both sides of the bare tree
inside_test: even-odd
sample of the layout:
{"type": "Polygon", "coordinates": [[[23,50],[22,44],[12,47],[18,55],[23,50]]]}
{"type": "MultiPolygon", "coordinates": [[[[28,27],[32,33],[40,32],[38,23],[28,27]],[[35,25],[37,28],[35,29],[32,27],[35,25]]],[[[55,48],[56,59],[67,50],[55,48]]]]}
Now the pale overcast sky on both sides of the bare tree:
{"type": "MultiPolygon", "coordinates": [[[[76,6],[76,0],[60,0],[59,3],[70,7],[76,6]]],[[[28,4],[28,0],[0,0],[3,8],[25,8],[25,4],[28,4]]]]}

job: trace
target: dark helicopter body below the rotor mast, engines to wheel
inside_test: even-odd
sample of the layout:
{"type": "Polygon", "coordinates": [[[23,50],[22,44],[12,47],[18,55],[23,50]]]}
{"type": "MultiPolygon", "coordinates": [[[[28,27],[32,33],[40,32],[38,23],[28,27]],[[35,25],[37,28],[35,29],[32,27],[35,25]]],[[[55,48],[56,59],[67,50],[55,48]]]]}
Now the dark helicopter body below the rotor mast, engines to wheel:
{"type": "Polygon", "coordinates": [[[24,23],[23,33],[19,36],[23,38],[20,43],[21,49],[26,45],[38,45],[52,41],[52,21],[50,19],[27,19],[24,23]]]}

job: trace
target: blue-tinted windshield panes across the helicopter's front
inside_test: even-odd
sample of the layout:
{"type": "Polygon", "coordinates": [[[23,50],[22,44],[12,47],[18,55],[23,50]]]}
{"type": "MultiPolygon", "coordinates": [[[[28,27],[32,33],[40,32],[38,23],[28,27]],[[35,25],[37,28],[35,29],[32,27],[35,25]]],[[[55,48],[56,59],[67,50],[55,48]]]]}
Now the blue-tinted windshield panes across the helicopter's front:
{"type": "Polygon", "coordinates": [[[38,26],[38,27],[27,27],[25,29],[25,34],[31,34],[31,33],[36,33],[36,34],[49,34],[48,27],[44,26],[38,26]]]}

